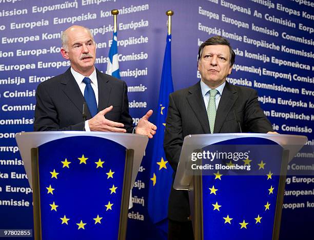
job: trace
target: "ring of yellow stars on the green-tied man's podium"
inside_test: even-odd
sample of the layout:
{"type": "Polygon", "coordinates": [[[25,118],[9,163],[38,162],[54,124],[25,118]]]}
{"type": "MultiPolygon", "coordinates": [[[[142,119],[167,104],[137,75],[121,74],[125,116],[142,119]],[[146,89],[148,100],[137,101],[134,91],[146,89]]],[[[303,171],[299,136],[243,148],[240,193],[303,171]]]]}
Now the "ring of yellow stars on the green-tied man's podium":
{"type": "MultiPolygon", "coordinates": [[[[245,165],[249,165],[249,166],[250,166],[250,163],[252,162],[252,160],[250,160],[250,159],[248,159],[248,158],[246,158],[246,159],[244,159],[244,160],[242,160],[242,161],[244,162],[244,166],[245,166],[245,165]]],[[[230,162],[229,162],[229,163],[226,163],[226,165],[228,165],[228,166],[233,166],[234,164],[233,164],[232,161],[230,160],[230,162]]],[[[259,166],[259,170],[261,170],[261,169],[264,169],[264,170],[265,170],[265,165],[266,165],[266,163],[263,163],[263,161],[261,161],[261,162],[258,163],[257,165],[259,166]]],[[[221,174],[219,171],[218,171],[217,173],[214,173],[214,175],[215,175],[215,178],[214,178],[214,179],[219,179],[219,180],[221,180],[221,177],[223,176],[223,174],[221,174]]],[[[269,171],[269,173],[266,174],[267,180],[271,179],[271,176],[272,176],[272,175],[273,175],[273,173],[272,173],[271,171],[269,171]]],[[[211,187],[211,188],[208,188],[208,189],[210,190],[210,193],[209,193],[209,194],[217,195],[216,192],[218,191],[218,189],[216,189],[216,188],[214,187],[214,185],[212,185],[212,187],[211,187]]],[[[272,185],[271,185],[270,188],[268,189],[268,195],[273,194],[273,190],[274,190],[274,187],[272,187],[272,185]]],[[[213,206],[213,211],[214,211],[214,210],[220,211],[220,208],[222,207],[221,205],[218,204],[218,202],[212,204],[212,206],[213,206]]],[[[264,205],[264,207],[265,207],[265,211],[269,210],[270,203],[267,202],[266,205],[264,205]]],[[[231,221],[232,221],[233,218],[229,217],[229,214],[227,214],[227,216],[226,216],[226,217],[223,217],[223,219],[224,219],[224,224],[230,224],[230,225],[231,225],[231,221]]],[[[255,219],[255,224],[258,224],[258,223],[261,224],[261,219],[262,219],[262,217],[260,216],[260,214],[258,214],[258,216],[257,216],[256,218],[254,218],[254,219],[255,219]]],[[[247,229],[247,225],[248,225],[248,224],[249,224],[249,223],[248,223],[248,222],[246,223],[246,222],[245,222],[245,219],[243,219],[243,222],[240,222],[240,223],[239,223],[240,229],[242,229],[242,228],[247,229]]]]}

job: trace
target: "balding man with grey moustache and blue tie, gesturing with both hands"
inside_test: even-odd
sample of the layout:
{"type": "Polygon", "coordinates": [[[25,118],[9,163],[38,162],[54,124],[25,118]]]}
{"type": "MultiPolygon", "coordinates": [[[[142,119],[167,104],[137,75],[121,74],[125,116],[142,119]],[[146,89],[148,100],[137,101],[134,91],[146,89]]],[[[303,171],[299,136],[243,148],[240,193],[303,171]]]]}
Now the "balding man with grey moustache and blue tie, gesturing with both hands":
{"type": "Polygon", "coordinates": [[[62,33],[61,40],[61,54],[71,67],[38,85],[34,130],[135,132],[152,138],[156,130],[148,122],[152,110],[134,128],[125,82],[94,67],[96,45],[90,30],[72,26],[62,33]],[[84,102],[87,121],[82,115],[84,102]]]}

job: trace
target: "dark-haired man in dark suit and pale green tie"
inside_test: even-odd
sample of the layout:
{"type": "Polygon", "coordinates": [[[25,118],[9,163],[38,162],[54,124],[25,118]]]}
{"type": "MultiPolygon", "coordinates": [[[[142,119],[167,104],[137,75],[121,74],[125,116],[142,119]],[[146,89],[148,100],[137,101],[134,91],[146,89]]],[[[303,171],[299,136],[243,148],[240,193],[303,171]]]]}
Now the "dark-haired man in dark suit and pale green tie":
{"type": "MultiPolygon", "coordinates": [[[[229,42],[214,36],[199,48],[201,81],[169,96],[164,150],[174,170],[183,139],[189,134],[243,132],[267,133],[272,127],[258,102],[257,91],[226,82],[235,59],[229,42]]],[[[193,239],[188,192],[171,188],[169,239],[193,239]]]]}

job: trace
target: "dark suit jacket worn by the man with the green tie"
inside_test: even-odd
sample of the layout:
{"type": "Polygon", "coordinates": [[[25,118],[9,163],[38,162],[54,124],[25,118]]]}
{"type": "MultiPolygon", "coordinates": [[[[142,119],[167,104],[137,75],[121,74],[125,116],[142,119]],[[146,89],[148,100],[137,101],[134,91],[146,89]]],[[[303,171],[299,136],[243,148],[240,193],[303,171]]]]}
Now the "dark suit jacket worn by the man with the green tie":
{"type": "MultiPolygon", "coordinates": [[[[226,82],[218,105],[214,133],[240,132],[266,133],[272,127],[258,102],[257,91],[226,82]],[[235,119],[237,116],[237,120],[235,119]]],[[[173,92],[169,96],[164,150],[172,169],[178,167],[183,139],[189,134],[210,133],[207,111],[200,82],[192,87],[173,92]]],[[[190,215],[188,192],[171,188],[168,217],[174,221],[187,221],[190,215]]]]}

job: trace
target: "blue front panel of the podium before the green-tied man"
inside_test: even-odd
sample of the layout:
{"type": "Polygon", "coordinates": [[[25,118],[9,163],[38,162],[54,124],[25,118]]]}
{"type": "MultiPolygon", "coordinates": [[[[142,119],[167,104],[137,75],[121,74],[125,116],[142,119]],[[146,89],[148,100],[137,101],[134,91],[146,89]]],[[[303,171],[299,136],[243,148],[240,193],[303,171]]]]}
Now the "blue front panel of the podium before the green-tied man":
{"type": "Polygon", "coordinates": [[[282,148],[261,138],[233,139],[218,144],[237,144],[237,151],[249,151],[250,161],[241,160],[238,164],[249,164],[252,171],[260,172],[247,175],[241,173],[237,176],[220,171],[220,174],[223,173],[221,176],[203,176],[204,239],[270,240],[282,148]],[[258,145],[261,145],[261,149],[258,145]],[[268,150],[265,145],[269,145],[268,150]]]}

